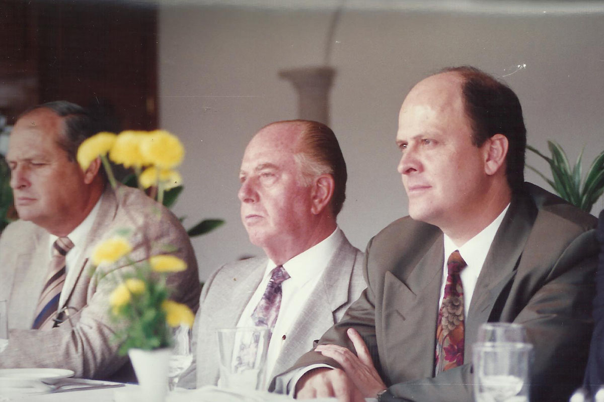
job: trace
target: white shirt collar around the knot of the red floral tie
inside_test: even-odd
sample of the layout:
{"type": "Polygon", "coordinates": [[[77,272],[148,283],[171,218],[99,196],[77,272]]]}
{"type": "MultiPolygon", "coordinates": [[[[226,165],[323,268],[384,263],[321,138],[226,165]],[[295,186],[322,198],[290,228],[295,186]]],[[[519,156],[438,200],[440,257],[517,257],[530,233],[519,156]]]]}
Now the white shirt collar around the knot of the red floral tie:
{"type": "Polygon", "coordinates": [[[484,260],[489,253],[490,245],[493,242],[493,239],[495,239],[495,234],[509,207],[510,204],[507,204],[493,222],[490,222],[486,228],[472,237],[472,239],[467,240],[461,247],[457,247],[453,240],[451,240],[451,237],[445,234],[445,260],[448,259],[455,250],[459,250],[461,258],[463,258],[468,266],[483,266],[484,260]]]}

